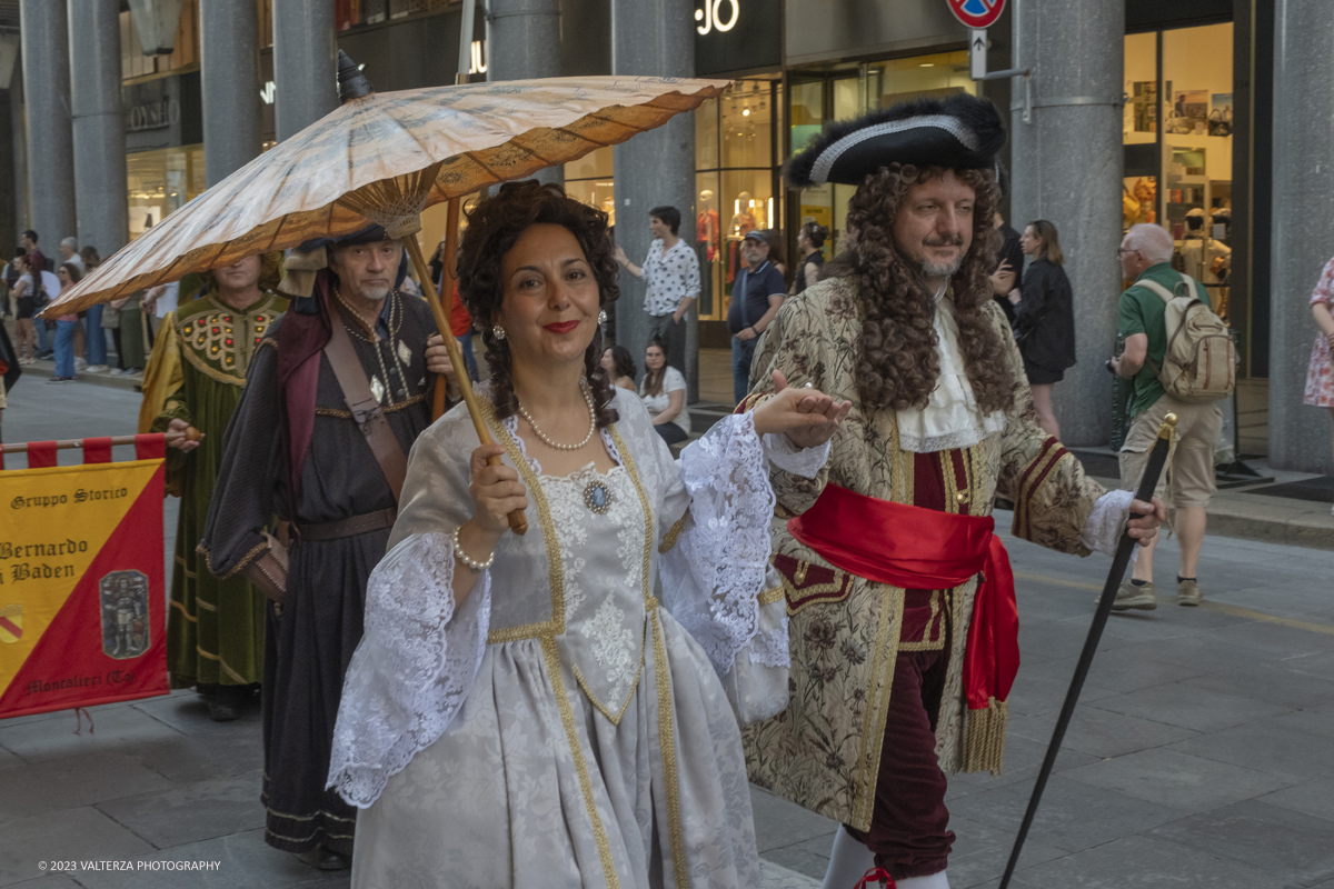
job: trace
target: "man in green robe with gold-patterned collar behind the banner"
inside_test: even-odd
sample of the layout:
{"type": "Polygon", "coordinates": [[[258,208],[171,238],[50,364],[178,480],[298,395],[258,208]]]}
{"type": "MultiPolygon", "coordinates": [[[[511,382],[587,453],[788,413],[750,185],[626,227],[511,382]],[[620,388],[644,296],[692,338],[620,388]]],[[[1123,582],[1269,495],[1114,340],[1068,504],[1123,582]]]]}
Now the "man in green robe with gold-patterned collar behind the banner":
{"type": "Polygon", "coordinates": [[[167,395],[152,428],[184,432],[195,427],[203,433],[197,441],[173,441],[167,452],[167,486],[181,498],[167,668],[172,688],[197,688],[219,722],[240,716],[264,674],[264,597],[241,576],[213,577],[195,545],[204,533],[224,433],[251,356],[287,309],[287,300],[272,291],[280,260],[280,253],[251,256],[205,273],[199,297],[164,320],[163,333],[169,329],[171,335],[157,343],[164,351],[161,364],[179,365],[180,385],[167,395]]]}

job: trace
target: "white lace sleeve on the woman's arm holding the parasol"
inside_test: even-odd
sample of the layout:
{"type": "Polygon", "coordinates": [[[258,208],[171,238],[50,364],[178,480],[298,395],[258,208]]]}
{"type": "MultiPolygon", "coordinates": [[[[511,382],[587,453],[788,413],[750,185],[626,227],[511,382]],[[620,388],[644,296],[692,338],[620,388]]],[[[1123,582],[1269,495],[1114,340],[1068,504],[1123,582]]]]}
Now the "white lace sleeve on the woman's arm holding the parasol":
{"type": "Polygon", "coordinates": [[[343,682],[329,788],[360,809],[459,713],[486,650],[491,574],[454,606],[448,534],[403,540],[371,573],[366,634],[343,682]]]}

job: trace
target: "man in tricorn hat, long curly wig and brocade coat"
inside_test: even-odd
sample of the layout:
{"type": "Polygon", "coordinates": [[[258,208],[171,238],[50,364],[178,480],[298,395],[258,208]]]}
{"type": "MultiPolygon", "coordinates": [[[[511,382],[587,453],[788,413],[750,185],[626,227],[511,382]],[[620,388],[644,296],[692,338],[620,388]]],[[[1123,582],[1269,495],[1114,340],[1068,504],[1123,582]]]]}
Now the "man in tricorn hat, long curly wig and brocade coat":
{"type": "MultiPolygon", "coordinates": [[[[832,124],[788,169],[796,188],[858,187],[855,244],[783,305],[743,408],[782,371],[852,412],[816,478],[772,473],[792,685],[746,730],[747,765],[843,822],[830,888],[872,856],[904,889],[948,886],[946,774],[1000,769],[1018,622],[996,493],[1015,536],[1081,554],[1113,552],[1131,508],[1038,428],[991,300],[1003,143],[995,108],[960,95],[832,124]]],[[[1139,508],[1147,538],[1161,505],[1139,508]]]]}

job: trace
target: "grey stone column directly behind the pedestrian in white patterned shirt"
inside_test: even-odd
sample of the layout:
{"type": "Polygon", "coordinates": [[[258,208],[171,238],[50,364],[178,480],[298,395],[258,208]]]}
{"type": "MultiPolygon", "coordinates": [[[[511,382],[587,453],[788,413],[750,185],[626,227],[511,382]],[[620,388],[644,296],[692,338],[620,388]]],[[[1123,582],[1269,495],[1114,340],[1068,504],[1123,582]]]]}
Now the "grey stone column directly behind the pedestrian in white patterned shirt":
{"type": "MultiPolygon", "coordinates": [[[[690,0],[611,0],[611,71],[620,76],[695,76],[694,7],[690,0]]],[[[695,247],[695,116],[676,115],[658,129],[612,148],[616,173],[616,243],[635,265],[648,253],[648,211],[680,211],[680,236],[695,247]]],[[[687,315],[687,401],[699,401],[699,317],[687,315]]],[[[648,340],[644,285],[620,273],[616,343],[643,365],[648,340]]]]}

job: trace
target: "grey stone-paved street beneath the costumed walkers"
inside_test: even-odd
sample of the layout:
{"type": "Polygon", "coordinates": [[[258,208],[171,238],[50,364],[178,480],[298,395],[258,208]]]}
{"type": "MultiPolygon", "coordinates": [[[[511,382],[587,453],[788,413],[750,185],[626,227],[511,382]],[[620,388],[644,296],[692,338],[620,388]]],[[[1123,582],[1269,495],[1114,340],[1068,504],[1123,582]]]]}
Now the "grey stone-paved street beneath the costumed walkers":
{"type": "MultiPolygon", "coordinates": [[[[137,408],[133,392],[25,377],[4,439],[124,435],[137,408]]],[[[998,885],[1110,565],[1006,537],[1023,666],[1005,774],[951,780],[955,889],[998,885]]],[[[1195,609],[1177,606],[1175,553],[1161,548],[1158,609],[1109,621],[1017,889],[1334,888],[1334,553],[1210,537],[1195,609]]],[[[92,728],[71,712],[0,721],[0,886],[348,885],[264,845],[257,708],[216,724],[176,692],[89,714],[92,728]],[[219,864],[81,869],[92,861],[219,864]]],[[[818,886],[838,825],[752,796],[766,886],[818,886]]]]}

